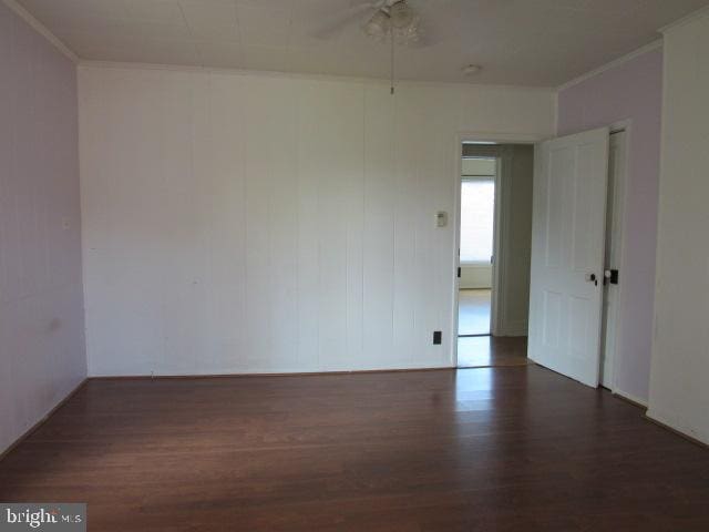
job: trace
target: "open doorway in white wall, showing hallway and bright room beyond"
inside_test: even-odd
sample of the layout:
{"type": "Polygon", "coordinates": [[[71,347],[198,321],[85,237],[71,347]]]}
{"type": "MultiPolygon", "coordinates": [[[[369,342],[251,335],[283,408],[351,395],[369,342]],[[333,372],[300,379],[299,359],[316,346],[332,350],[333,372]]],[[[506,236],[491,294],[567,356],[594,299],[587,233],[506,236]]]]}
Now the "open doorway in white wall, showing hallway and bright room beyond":
{"type": "Polygon", "coordinates": [[[458,367],[523,366],[534,147],[463,142],[461,155],[458,367]]]}

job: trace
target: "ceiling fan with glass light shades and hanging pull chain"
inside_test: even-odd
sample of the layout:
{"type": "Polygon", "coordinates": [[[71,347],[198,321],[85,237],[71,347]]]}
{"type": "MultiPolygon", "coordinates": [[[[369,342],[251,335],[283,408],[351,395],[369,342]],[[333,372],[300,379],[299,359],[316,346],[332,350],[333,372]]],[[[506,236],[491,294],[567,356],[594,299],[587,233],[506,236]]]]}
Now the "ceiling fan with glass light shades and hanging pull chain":
{"type": "MultiPolygon", "coordinates": [[[[415,2],[415,0],[413,0],[415,2]]],[[[356,2],[327,25],[316,32],[316,37],[328,39],[346,27],[359,22],[364,35],[378,41],[390,42],[391,94],[394,93],[394,48],[423,47],[432,41],[424,40],[422,18],[412,0],[377,0],[356,2]],[[363,14],[366,13],[366,14],[363,14]]],[[[429,37],[429,35],[427,35],[429,37]]]]}

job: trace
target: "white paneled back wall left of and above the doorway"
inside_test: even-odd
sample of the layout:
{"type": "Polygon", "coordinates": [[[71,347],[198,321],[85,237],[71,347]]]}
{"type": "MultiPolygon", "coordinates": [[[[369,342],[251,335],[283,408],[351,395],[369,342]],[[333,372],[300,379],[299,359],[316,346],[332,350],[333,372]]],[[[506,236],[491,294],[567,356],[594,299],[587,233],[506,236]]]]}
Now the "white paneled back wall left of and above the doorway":
{"type": "Polygon", "coordinates": [[[80,93],[94,376],[450,366],[456,134],[554,125],[545,90],[85,65],[80,93]]]}

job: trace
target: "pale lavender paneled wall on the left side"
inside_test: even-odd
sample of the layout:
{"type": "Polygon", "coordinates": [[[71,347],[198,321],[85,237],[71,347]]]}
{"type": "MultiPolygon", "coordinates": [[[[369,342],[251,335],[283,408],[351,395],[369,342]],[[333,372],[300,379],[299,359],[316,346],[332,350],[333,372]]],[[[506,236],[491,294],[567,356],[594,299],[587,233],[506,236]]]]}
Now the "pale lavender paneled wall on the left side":
{"type": "Polygon", "coordinates": [[[0,452],[86,375],[75,65],[0,2],[0,452]]]}

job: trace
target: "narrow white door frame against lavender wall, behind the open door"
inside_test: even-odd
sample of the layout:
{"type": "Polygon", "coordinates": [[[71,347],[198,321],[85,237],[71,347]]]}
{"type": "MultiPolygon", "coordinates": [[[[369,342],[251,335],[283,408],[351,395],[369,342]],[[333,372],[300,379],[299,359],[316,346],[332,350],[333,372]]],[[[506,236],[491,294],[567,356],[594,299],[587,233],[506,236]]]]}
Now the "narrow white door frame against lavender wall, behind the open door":
{"type": "MultiPolygon", "coordinates": [[[[627,214],[627,198],[628,198],[628,177],[630,174],[630,145],[631,145],[631,140],[633,140],[633,120],[628,119],[628,120],[621,120],[618,122],[614,122],[613,124],[610,124],[610,134],[613,135],[614,133],[619,133],[619,132],[625,132],[625,161],[624,161],[624,167],[620,172],[620,175],[614,175],[614,180],[616,183],[616,191],[618,190],[618,182],[620,182],[620,195],[619,197],[616,197],[616,200],[619,200],[618,202],[614,202],[614,209],[615,208],[620,208],[620,216],[618,217],[618,222],[619,222],[619,227],[617,227],[617,238],[619,238],[619,245],[618,245],[618,270],[620,272],[620,275],[624,275],[623,273],[625,272],[625,253],[624,252],[624,244],[626,242],[626,214],[627,214]]],[[[614,213],[615,216],[615,213],[614,213]]],[[[606,227],[606,232],[610,231],[609,227],[606,227]]],[[[623,279],[624,277],[621,277],[623,279]]],[[[614,352],[613,352],[613,357],[612,357],[612,366],[610,366],[610,382],[608,385],[605,385],[613,393],[618,392],[617,390],[617,383],[616,383],[616,376],[617,376],[617,362],[618,362],[618,344],[619,340],[623,338],[623,304],[625,301],[626,298],[626,294],[627,294],[627,288],[626,288],[626,283],[620,283],[618,285],[618,301],[617,301],[617,319],[616,319],[616,326],[614,328],[614,341],[613,341],[613,346],[614,346],[614,352]]],[[[604,290],[604,301],[603,304],[606,304],[606,293],[604,290]]],[[[607,316],[606,316],[607,317],[607,316]]],[[[604,330],[607,330],[606,325],[604,324],[604,330]]],[[[602,354],[603,356],[605,356],[605,338],[603,339],[604,341],[604,352],[602,354]]],[[[603,376],[602,376],[603,377],[603,376]]]]}

